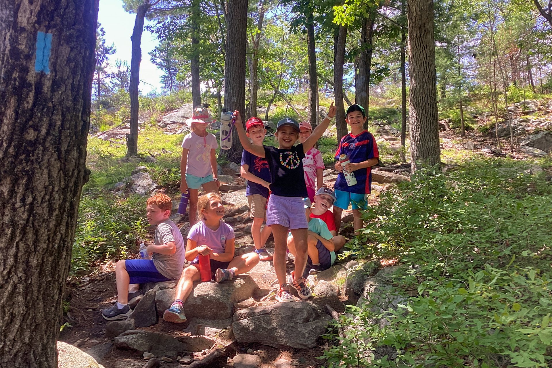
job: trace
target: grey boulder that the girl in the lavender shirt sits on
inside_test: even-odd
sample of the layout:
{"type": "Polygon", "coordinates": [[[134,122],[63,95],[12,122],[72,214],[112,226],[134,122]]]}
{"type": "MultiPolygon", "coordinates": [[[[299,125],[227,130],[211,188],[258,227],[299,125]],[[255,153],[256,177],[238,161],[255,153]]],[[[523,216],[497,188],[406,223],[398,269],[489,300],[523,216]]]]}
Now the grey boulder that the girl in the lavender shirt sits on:
{"type": "MultiPolygon", "coordinates": [[[[236,276],[233,281],[200,282],[195,286],[193,295],[184,302],[186,317],[203,319],[225,319],[232,317],[233,303],[241,302],[253,295],[256,282],[249,275],[236,276]]],[[[155,293],[157,313],[163,312],[174,301],[174,289],[158,290],[155,293]]]]}

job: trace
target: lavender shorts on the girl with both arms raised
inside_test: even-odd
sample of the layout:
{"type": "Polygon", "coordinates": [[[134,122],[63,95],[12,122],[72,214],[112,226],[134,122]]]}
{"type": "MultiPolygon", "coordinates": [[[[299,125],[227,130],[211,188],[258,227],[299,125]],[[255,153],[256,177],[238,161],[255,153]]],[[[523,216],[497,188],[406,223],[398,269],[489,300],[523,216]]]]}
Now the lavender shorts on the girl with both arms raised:
{"type": "Polygon", "coordinates": [[[309,227],[302,198],[270,194],[267,207],[267,226],[270,225],[282,225],[289,230],[309,227]]]}

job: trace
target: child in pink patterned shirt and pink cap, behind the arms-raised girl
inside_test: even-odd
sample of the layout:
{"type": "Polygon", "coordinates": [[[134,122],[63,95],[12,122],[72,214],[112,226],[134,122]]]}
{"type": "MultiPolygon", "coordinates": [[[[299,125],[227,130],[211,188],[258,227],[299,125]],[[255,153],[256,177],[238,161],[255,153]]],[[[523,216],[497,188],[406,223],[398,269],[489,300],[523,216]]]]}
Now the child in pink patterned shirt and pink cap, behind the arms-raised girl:
{"type": "MultiPolygon", "coordinates": [[[[312,126],[306,121],[301,121],[299,123],[299,142],[305,143],[306,139],[311,134],[312,126]]],[[[309,151],[305,152],[305,158],[303,158],[303,172],[305,173],[307,194],[311,202],[314,201],[316,185],[318,185],[319,189],[322,188],[324,168],[322,153],[320,153],[319,150],[312,147],[309,151]]]]}

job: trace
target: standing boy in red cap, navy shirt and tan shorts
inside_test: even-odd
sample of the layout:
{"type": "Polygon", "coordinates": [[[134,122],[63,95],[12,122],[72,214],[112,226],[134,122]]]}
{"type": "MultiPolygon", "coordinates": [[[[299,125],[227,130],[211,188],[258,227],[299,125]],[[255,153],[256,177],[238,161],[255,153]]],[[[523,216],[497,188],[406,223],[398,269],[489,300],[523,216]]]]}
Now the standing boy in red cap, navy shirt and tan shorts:
{"type": "MultiPolygon", "coordinates": [[[[245,123],[247,137],[254,145],[263,145],[264,136],[267,130],[264,129],[263,121],[259,118],[251,118],[245,123]]],[[[270,169],[268,161],[264,157],[258,157],[243,150],[240,174],[242,178],[247,179],[246,196],[249,202],[249,208],[253,223],[251,225],[251,237],[255,244],[255,253],[259,255],[262,261],[272,260],[272,255],[268,254],[264,244],[272,230],[270,226],[265,226],[261,231],[261,226],[266,218],[266,206],[268,200],[268,188],[270,185],[270,169]]]]}

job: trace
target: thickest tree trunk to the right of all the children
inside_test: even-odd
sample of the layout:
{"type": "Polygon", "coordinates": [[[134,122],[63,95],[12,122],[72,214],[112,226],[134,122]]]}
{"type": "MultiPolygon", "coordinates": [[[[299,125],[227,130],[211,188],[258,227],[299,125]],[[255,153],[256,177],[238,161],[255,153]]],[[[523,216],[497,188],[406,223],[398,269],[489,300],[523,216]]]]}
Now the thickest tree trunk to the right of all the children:
{"type": "Polygon", "coordinates": [[[408,2],[412,170],[440,163],[433,1],[408,2]]]}

